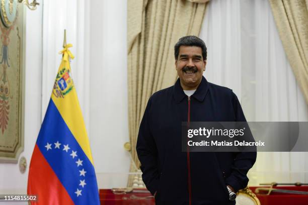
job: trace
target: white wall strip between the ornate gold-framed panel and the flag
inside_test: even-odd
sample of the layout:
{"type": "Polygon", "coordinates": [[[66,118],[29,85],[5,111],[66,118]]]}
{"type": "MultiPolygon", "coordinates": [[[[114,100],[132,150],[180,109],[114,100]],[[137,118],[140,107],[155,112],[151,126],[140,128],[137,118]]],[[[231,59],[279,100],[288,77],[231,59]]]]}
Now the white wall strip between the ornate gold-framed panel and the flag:
{"type": "Polygon", "coordinates": [[[18,164],[0,163],[0,193],[26,193],[29,164],[41,126],[42,5],[25,12],[25,149],[20,157],[27,159],[27,170],[21,174],[18,164]]]}

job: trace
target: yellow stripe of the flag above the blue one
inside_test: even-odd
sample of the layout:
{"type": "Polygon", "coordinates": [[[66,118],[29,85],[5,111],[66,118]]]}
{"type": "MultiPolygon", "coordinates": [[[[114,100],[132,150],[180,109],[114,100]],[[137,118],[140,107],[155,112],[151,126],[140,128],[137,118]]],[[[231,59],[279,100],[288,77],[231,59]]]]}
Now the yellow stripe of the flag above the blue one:
{"type": "MultiPolygon", "coordinates": [[[[62,60],[59,71],[65,67],[70,70],[69,62],[62,60]]],[[[58,71],[58,72],[59,72],[58,71]]],[[[81,148],[84,150],[85,154],[93,164],[90,143],[88,140],[88,135],[84,123],[84,118],[80,109],[77,93],[75,87],[64,95],[64,97],[56,96],[53,93],[51,94],[51,98],[57,107],[59,113],[61,114],[64,122],[66,123],[68,129],[75,137],[76,141],[79,143],[81,148]]]]}

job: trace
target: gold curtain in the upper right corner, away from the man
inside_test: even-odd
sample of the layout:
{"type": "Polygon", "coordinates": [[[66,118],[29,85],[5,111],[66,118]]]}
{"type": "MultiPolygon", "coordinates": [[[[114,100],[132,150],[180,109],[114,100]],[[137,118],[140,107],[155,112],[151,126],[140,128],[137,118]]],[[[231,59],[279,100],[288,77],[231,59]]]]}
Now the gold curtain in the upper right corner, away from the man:
{"type": "Polygon", "coordinates": [[[308,0],[270,0],[283,48],[308,104],[308,0]]]}

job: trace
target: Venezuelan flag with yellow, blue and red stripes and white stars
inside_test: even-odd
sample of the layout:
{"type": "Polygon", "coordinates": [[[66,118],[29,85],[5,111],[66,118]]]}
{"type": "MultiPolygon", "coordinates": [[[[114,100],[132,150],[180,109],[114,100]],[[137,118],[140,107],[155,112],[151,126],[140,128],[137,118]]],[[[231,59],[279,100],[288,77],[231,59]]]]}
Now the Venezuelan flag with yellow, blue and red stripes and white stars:
{"type": "Polygon", "coordinates": [[[99,204],[90,144],[65,46],[51,99],[31,158],[28,195],[32,204],[99,204]]]}

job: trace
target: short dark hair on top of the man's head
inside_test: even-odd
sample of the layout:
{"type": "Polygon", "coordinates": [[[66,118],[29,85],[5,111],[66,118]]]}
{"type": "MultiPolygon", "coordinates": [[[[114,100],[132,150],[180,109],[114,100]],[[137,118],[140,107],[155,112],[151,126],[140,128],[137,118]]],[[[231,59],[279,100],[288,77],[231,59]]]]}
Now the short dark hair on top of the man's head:
{"type": "Polygon", "coordinates": [[[184,36],[179,39],[179,41],[174,46],[174,57],[177,60],[179,56],[179,50],[181,46],[197,46],[202,49],[203,60],[206,60],[207,52],[206,46],[202,39],[196,36],[184,36]]]}

